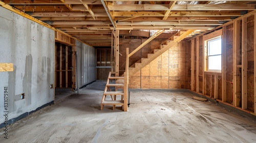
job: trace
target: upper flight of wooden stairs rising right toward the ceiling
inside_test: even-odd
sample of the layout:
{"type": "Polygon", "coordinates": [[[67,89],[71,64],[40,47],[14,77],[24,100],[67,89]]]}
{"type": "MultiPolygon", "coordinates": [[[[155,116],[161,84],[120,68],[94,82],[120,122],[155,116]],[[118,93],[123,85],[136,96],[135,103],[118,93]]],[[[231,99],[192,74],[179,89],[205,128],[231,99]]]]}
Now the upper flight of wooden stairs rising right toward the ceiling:
{"type": "MultiPolygon", "coordinates": [[[[179,31],[163,43],[161,43],[159,46],[156,47],[151,53],[148,53],[146,57],[141,58],[136,63],[134,63],[132,66],[129,67],[129,76],[133,76],[135,73],[137,73],[141,68],[152,62],[154,59],[156,59],[158,56],[163,54],[165,51],[170,49],[170,47],[176,45],[181,40],[186,38],[189,34],[193,33],[194,30],[187,30],[187,31],[179,31]]],[[[130,57],[131,55],[129,55],[130,57]]]]}

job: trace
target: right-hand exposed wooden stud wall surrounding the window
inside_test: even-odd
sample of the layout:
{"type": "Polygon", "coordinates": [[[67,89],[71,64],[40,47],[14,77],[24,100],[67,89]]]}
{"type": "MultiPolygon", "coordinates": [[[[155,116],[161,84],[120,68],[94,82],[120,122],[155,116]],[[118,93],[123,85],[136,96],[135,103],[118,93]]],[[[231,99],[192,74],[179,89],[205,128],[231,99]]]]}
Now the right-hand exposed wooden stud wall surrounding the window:
{"type": "MultiPolygon", "coordinates": [[[[214,99],[216,99],[217,101],[219,102],[223,102],[223,103],[226,103],[230,106],[233,106],[233,107],[236,107],[238,109],[241,109],[243,111],[246,111],[246,112],[249,112],[251,114],[254,114],[256,115],[256,69],[254,67],[256,67],[256,12],[253,11],[253,12],[250,12],[242,17],[239,17],[237,19],[234,19],[233,21],[230,21],[230,22],[227,22],[225,23],[223,26],[220,26],[216,29],[222,29],[222,73],[215,73],[215,72],[203,72],[203,95],[211,98],[211,95],[207,95],[206,94],[206,88],[209,88],[206,87],[206,81],[209,82],[207,79],[207,76],[206,75],[211,75],[214,76],[214,81],[212,81],[212,79],[210,79],[212,81],[211,83],[211,87],[214,86],[214,99]],[[249,41],[250,37],[248,37],[249,35],[251,35],[251,31],[248,31],[248,27],[247,27],[247,23],[248,22],[251,22],[252,20],[248,21],[248,17],[251,17],[251,16],[254,16],[254,31],[252,32],[252,34],[254,34],[254,39],[252,41],[249,41]],[[233,26],[232,29],[227,29],[227,26],[230,26],[231,27],[233,26]],[[227,35],[227,31],[230,33],[231,32],[231,35],[232,37],[230,37],[230,34],[227,35]],[[250,32],[247,33],[247,32],[250,32]],[[249,35],[248,35],[249,34],[249,35]],[[248,35],[248,36],[247,36],[248,35]],[[229,36],[229,37],[227,37],[229,36]],[[229,40],[227,40],[227,38],[229,38],[229,40]],[[230,40],[231,38],[231,40],[230,40]],[[227,43],[227,41],[229,43],[227,43]],[[230,43],[231,41],[231,43],[230,43]],[[247,90],[248,89],[248,81],[247,81],[247,71],[248,71],[248,61],[247,61],[247,57],[248,57],[248,54],[247,54],[247,51],[248,51],[248,44],[250,43],[253,43],[253,59],[250,59],[250,60],[253,60],[254,63],[253,63],[253,73],[254,73],[254,80],[253,80],[253,87],[254,89],[250,89],[250,90],[253,90],[253,111],[249,110],[248,109],[248,101],[247,101],[247,90]],[[227,55],[227,46],[229,46],[228,48],[233,48],[232,49],[232,53],[233,55],[227,55]],[[229,58],[226,58],[226,56],[229,56],[229,57],[232,57],[231,59],[229,58]],[[226,65],[227,64],[227,60],[233,60],[233,65],[232,65],[232,69],[227,69],[228,66],[226,65]],[[232,82],[230,82],[230,77],[229,79],[227,79],[227,70],[229,71],[230,73],[230,70],[232,71],[231,73],[233,74],[232,75],[232,82]],[[241,75],[240,75],[240,71],[241,71],[241,75]],[[220,79],[221,77],[221,79],[220,79]],[[229,81],[227,81],[229,80],[229,81]],[[221,81],[221,82],[220,82],[221,81]],[[221,85],[220,85],[221,83],[221,85]],[[232,87],[230,88],[227,88],[227,85],[230,85],[230,84],[233,84],[232,87]],[[232,91],[229,91],[230,89],[232,89],[232,91]],[[221,90],[221,96],[218,95],[218,90],[221,90]],[[228,103],[227,101],[227,97],[228,97],[228,92],[229,91],[229,94],[230,92],[232,93],[232,103],[228,103]],[[220,99],[221,98],[221,99],[220,99]],[[242,100],[242,101],[241,101],[242,100]],[[240,104],[241,103],[241,104],[240,104]]],[[[215,30],[216,30],[215,29],[215,30]]],[[[212,30],[212,33],[214,33],[214,30],[212,30]]],[[[205,34],[205,33],[204,33],[205,34]]],[[[196,77],[198,78],[198,66],[195,67],[193,66],[194,65],[194,61],[195,61],[195,56],[198,57],[199,56],[199,50],[198,50],[198,47],[199,47],[199,42],[198,42],[198,39],[200,36],[203,36],[203,41],[206,39],[205,38],[205,35],[204,34],[200,34],[198,35],[197,37],[194,37],[194,38],[191,38],[191,90],[195,90],[196,88],[196,91],[199,92],[198,88],[199,88],[199,84],[194,84],[194,70],[196,70],[196,77]],[[194,43],[196,42],[196,46],[194,45],[194,43]],[[196,50],[196,53],[194,52],[194,49],[197,48],[196,50]],[[196,86],[196,87],[195,87],[196,86]]],[[[206,54],[206,51],[204,50],[203,48],[203,53],[204,55],[206,54]]],[[[230,52],[229,52],[230,53],[230,52]]],[[[198,58],[196,59],[197,60],[197,64],[198,64],[198,58]]],[[[203,61],[199,61],[199,62],[202,62],[203,63],[203,67],[204,69],[207,68],[206,67],[206,63],[207,62],[206,60],[203,60],[203,61]]],[[[229,61],[230,63],[230,61],[229,61]]],[[[230,66],[229,66],[230,67],[230,66]]],[[[198,80],[197,80],[198,81],[198,80]]],[[[210,81],[210,82],[211,82],[210,81]]],[[[211,88],[210,87],[210,88],[211,88]]],[[[229,97],[230,98],[230,97],[229,97]]],[[[250,103],[251,104],[251,103],[250,103]]]]}

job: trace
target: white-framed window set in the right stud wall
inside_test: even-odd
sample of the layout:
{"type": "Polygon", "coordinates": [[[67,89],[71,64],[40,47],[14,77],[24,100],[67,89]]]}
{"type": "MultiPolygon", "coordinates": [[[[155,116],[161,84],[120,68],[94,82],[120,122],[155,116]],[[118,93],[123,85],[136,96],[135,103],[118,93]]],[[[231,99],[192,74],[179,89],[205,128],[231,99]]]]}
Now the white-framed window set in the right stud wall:
{"type": "Polygon", "coordinates": [[[207,70],[221,72],[221,36],[207,40],[207,70]]]}

